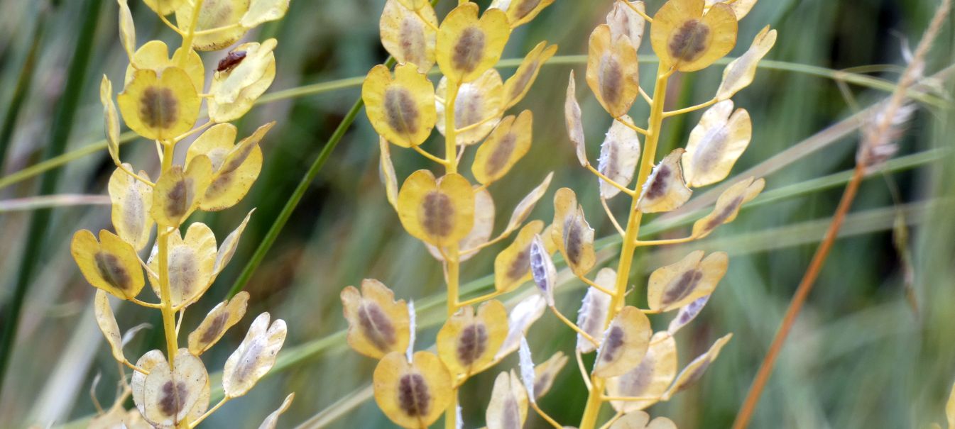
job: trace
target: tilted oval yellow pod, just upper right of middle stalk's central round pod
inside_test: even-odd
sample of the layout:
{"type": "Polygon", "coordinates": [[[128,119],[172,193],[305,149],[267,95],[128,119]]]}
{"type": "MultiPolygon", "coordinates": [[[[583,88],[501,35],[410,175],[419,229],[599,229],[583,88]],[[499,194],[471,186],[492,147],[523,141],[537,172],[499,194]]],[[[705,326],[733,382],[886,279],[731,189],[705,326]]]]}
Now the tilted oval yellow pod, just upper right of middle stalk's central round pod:
{"type": "Polygon", "coordinates": [[[482,185],[489,185],[511,171],[520,158],[531,149],[534,115],[520,112],[515,118],[507,116],[498,128],[488,135],[475,153],[471,173],[482,185]]]}

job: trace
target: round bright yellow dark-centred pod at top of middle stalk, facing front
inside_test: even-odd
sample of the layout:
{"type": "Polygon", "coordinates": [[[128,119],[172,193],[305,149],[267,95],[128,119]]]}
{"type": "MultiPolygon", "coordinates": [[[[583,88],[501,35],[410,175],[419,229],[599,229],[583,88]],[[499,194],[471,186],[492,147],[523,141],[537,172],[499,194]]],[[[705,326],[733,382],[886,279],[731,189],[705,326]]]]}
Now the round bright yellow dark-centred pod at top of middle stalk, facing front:
{"type": "Polygon", "coordinates": [[[510,35],[503,11],[489,9],[478,19],[477,4],[458,5],[437,31],[437,67],[456,83],[475,80],[498,64],[510,35]]]}

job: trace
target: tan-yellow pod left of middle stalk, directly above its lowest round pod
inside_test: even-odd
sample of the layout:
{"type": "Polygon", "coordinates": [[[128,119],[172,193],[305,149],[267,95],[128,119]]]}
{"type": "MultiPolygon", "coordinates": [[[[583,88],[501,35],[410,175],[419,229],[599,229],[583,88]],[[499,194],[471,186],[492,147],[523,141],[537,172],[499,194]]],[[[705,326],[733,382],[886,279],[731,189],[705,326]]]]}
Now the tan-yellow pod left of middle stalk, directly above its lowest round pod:
{"type": "Polygon", "coordinates": [[[349,321],[349,345],[355,352],[380,359],[391,352],[404,353],[411,339],[408,304],[395,301],[394,293],[378,280],[361,282],[342,290],[342,308],[349,321]]]}

